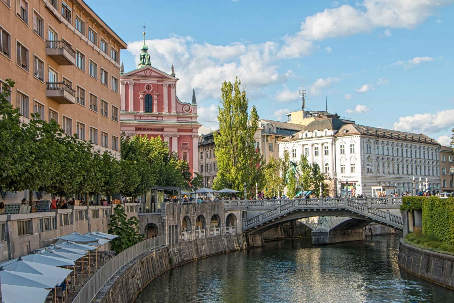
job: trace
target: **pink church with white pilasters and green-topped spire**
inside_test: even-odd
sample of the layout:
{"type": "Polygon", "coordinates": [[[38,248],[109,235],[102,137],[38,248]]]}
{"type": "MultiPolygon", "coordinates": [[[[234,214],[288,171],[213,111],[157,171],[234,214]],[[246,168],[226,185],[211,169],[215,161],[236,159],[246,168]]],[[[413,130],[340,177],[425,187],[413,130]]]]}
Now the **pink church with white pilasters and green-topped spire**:
{"type": "Polygon", "coordinates": [[[198,172],[197,102],[192,90],[192,103],[181,102],[173,65],[170,75],[151,66],[143,33],[142,54],[137,69],[120,70],[120,126],[126,135],[148,138],[160,136],[170,150],[189,163],[192,173],[198,172]]]}

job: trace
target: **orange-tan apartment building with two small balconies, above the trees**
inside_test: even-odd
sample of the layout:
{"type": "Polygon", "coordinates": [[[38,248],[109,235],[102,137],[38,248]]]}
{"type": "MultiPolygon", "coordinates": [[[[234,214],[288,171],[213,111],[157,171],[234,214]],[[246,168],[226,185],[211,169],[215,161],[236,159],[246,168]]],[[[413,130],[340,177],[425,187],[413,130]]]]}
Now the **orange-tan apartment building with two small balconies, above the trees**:
{"type": "Polygon", "coordinates": [[[120,156],[119,54],[126,43],[82,0],[0,0],[0,80],[23,119],[39,114],[120,156]]]}

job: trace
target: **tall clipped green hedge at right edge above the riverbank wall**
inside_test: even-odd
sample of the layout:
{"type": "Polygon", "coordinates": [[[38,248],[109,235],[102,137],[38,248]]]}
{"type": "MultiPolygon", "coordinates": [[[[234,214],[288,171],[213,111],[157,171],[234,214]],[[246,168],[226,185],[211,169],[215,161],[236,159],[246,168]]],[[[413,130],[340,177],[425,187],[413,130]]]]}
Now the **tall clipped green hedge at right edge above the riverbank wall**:
{"type": "MultiPolygon", "coordinates": [[[[420,198],[425,198],[422,200],[423,233],[428,235],[434,235],[441,242],[453,245],[454,198],[445,199],[439,199],[436,197],[420,197],[420,198]]],[[[404,204],[404,202],[402,204],[404,204]]],[[[416,204],[416,202],[414,202],[414,204],[416,204]]]]}

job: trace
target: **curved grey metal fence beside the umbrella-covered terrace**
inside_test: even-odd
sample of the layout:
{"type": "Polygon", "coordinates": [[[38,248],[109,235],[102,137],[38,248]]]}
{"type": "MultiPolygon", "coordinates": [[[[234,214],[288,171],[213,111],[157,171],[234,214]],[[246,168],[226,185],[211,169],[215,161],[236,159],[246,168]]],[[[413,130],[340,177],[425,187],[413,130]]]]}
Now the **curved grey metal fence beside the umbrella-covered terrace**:
{"type": "Polygon", "coordinates": [[[97,273],[89,279],[89,281],[80,289],[73,303],[90,303],[99,293],[101,288],[109,282],[109,280],[118,272],[124,265],[151,249],[165,245],[165,236],[159,236],[147,239],[136,245],[131,246],[118,253],[106,265],[101,267],[97,273]]]}

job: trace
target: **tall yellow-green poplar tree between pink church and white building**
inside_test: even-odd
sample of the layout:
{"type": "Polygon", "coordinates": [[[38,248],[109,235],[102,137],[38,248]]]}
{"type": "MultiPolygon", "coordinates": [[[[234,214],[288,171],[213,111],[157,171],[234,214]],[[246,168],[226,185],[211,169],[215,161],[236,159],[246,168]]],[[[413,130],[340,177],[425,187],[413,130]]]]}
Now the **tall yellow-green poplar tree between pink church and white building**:
{"type": "Polygon", "coordinates": [[[214,133],[218,172],[214,189],[230,188],[240,192],[261,186],[263,173],[262,157],[255,149],[254,134],[258,126],[257,109],[247,112],[246,91],[240,90],[241,81],[222,83],[221,106],[218,106],[219,134],[214,133]]]}

